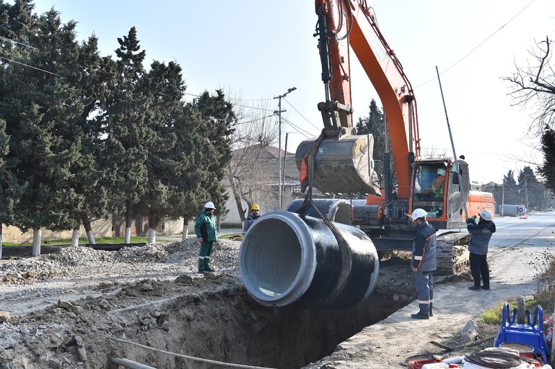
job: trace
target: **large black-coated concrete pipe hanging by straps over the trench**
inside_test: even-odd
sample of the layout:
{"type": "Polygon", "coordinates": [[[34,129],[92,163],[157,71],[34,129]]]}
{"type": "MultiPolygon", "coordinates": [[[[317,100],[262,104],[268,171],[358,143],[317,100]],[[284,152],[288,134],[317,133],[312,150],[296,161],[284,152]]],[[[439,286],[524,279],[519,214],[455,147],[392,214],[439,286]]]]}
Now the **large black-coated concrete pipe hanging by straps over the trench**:
{"type": "Polygon", "coordinates": [[[320,218],[291,212],[264,214],[246,232],[239,272],[260,304],[348,307],[366,300],[379,259],[358,228],[334,223],[340,243],[320,218]]]}

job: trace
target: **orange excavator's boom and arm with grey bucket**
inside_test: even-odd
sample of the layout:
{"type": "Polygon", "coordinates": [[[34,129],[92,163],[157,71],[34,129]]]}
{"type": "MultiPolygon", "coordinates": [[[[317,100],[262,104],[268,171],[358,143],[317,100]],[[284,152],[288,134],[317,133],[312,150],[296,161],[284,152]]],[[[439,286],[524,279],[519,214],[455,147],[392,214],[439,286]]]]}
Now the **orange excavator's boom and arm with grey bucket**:
{"type": "MultiPolygon", "coordinates": [[[[366,1],[316,0],[315,5],[325,101],[318,103],[323,133],[318,148],[311,151],[314,187],[323,192],[366,191],[379,195],[373,172],[372,135],[356,135],[352,123],[352,50],[384,106],[386,132],[391,139],[398,178],[398,196],[409,198],[411,164],[415,155],[420,155],[418,114],[411,83],[370,15],[366,1]]],[[[309,148],[315,141],[303,141],[298,148],[301,182],[302,163],[306,169],[309,148]]]]}

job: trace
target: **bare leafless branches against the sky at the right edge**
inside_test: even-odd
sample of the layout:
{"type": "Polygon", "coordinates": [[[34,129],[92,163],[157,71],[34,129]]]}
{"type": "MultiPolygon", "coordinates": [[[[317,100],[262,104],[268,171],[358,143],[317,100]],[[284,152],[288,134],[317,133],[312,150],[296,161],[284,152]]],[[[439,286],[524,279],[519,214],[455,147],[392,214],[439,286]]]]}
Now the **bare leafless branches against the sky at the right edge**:
{"type": "Polygon", "coordinates": [[[540,135],[545,128],[553,128],[555,118],[555,71],[551,65],[552,40],[545,37],[545,41],[538,42],[529,51],[536,62],[526,67],[515,64],[513,76],[506,77],[511,83],[515,105],[533,105],[538,111],[531,122],[529,133],[540,135]]]}

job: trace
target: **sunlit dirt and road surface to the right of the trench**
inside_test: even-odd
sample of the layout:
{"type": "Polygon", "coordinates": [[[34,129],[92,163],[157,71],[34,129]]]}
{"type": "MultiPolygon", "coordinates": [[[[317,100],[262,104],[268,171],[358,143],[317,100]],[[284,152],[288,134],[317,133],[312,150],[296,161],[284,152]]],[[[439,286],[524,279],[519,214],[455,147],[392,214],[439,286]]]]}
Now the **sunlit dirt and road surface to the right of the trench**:
{"type": "Polygon", "coordinates": [[[497,217],[490,241],[491,291],[469,291],[471,282],[447,283],[434,289],[434,317],[413,320],[412,302],[381,322],[364,328],[338,345],[330,356],[307,368],[406,368],[407,357],[440,353],[429,341],[445,341],[461,331],[468,320],[511,296],[531,295],[541,255],[555,248],[555,212],[536,213],[528,219],[497,217]]]}

